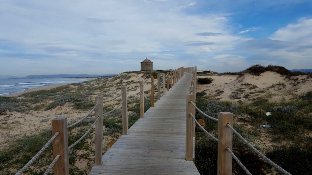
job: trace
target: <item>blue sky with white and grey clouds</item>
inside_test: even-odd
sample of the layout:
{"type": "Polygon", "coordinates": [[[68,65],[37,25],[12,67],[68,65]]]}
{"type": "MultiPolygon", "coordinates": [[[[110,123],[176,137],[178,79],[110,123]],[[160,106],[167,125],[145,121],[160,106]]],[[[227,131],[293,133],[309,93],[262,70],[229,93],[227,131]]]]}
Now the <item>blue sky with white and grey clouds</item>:
{"type": "Polygon", "coordinates": [[[0,75],[312,69],[311,0],[0,0],[0,75]]]}

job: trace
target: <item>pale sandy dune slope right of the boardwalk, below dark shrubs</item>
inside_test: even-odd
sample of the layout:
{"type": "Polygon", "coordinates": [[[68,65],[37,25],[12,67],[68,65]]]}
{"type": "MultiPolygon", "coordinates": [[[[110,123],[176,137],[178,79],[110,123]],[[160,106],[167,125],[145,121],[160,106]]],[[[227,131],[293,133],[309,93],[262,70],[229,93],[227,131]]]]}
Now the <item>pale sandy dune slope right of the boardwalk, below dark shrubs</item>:
{"type": "Polygon", "coordinates": [[[265,72],[259,76],[249,73],[243,76],[198,76],[205,77],[210,77],[214,81],[207,85],[198,84],[197,92],[205,91],[207,96],[225,101],[241,100],[250,103],[259,97],[271,101],[290,100],[312,91],[312,78],[306,75],[287,77],[274,72],[265,72]]]}

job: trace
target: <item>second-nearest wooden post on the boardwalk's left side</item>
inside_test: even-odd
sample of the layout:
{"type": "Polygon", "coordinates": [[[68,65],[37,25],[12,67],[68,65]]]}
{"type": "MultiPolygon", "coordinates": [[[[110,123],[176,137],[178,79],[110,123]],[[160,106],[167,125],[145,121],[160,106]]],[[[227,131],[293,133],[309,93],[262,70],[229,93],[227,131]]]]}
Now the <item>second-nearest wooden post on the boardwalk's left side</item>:
{"type": "Polygon", "coordinates": [[[103,97],[95,97],[95,104],[99,105],[95,108],[95,119],[99,120],[95,124],[95,165],[102,165],[103,154],[103,97]]]}

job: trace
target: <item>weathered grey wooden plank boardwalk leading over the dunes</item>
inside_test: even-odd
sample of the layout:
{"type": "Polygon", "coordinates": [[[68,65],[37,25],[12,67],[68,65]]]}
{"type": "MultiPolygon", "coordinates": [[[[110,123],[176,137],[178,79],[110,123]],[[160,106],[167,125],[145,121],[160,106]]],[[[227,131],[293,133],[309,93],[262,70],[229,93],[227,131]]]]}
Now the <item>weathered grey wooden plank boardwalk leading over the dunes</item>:
{"type": "Polygon", "coordinates": [[[90,174],[196,174],[185,160],[186,94],[192,75],[178,83],[145,112],[102,156],[103,164],[90,174]]]}

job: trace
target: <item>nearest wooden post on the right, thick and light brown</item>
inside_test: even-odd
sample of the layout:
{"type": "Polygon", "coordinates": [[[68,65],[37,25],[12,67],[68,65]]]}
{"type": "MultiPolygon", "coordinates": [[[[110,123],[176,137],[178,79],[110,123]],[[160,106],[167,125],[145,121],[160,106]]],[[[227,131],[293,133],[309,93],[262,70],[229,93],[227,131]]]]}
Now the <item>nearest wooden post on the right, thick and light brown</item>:
{"type": "Polygon", "coordinates": [[[232,156],[227,147],[232,149],[232,130],[227,124],[233,126],[233,114],[230,112],[218,113],[218,175],[232,174],[232,156]]]}

